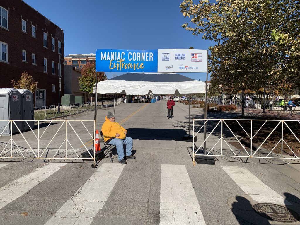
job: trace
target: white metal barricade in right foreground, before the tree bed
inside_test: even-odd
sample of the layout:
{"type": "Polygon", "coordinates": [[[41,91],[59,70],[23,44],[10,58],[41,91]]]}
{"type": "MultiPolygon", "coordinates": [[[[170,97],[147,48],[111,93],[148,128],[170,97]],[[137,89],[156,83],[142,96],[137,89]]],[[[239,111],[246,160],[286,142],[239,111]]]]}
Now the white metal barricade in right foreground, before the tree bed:
{"type": "Polygon", "coordinates": [[[197,155],[300,160],[294,149],[300,146],[299,131],[298,120],[193,119],[193,161],[197,155]],[[266,149],[270,141],[276,144],[266,149]],[[241,150],[229,142],[235,142],[241,150]]]}

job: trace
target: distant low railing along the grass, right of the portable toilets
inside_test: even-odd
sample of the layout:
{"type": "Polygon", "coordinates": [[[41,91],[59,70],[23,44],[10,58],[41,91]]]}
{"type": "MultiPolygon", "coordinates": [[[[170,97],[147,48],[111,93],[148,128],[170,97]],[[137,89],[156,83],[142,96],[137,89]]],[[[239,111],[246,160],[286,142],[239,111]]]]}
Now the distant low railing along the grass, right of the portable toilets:
{"type": "MultiPolygon", "coordinates": [[[[122,103],[122,98],[116,99],[116,105],[122,103]]],[[[114,100],[98,101],[97,109],[112,107],[114,100]]],[[[44,107],[35,107],[35,120],[47,120],[55,118],[64,118],[66,116],[78,115],[88,110],[95,109],[95,102],[75,103],[69,105],[52,105],[44,107]],[[59,108],[59,110],[58,110],[59,108]]]]}

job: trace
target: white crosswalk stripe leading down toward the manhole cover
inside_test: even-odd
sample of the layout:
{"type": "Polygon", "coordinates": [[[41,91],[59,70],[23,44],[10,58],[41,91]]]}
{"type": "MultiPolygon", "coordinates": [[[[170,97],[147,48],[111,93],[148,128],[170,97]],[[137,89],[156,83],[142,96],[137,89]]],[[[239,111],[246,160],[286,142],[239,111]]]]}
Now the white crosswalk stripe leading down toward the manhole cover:
{"type": "Polygon", "coordinates": [[[222,166],[230,178],[256,202],[291,205],[285,198],[272,190],[245,167],[222,166]]]}

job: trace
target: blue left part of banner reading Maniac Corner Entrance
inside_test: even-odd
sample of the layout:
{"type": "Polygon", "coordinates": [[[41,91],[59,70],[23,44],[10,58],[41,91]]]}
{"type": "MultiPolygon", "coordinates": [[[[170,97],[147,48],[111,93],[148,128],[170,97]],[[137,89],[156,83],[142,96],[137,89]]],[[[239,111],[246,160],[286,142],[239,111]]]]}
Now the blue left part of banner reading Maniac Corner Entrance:
{"type": "Polygon", "coordinates": [[[158,71],[158,49],[97,49],[96,72],[152,73],[158,71]]]}

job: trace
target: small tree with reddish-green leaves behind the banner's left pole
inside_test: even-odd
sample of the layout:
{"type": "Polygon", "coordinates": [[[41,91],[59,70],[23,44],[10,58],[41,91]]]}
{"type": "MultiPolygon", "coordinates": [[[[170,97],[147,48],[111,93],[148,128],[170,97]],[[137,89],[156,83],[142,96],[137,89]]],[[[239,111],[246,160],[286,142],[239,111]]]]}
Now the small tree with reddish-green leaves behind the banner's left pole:
{"type": "MultiPolygon", "coordinates": [[[[95,72],[96,64],[95,62],[89,62],[85,64],[81,69],[81,77],[78,78],[80,91],[85,91],[89,94],[90,98],[93,94],[93,87],[95,85],[95,72]]],[[[107,76],[104,72],[97,72],[97,82],[106,80],[107,76]]]]}

